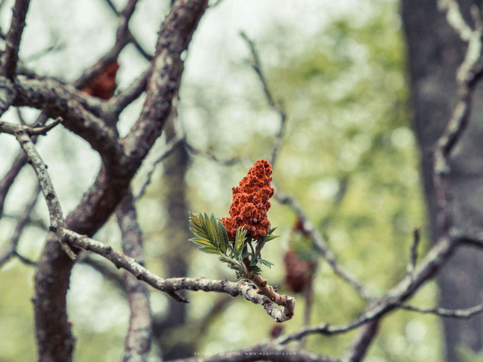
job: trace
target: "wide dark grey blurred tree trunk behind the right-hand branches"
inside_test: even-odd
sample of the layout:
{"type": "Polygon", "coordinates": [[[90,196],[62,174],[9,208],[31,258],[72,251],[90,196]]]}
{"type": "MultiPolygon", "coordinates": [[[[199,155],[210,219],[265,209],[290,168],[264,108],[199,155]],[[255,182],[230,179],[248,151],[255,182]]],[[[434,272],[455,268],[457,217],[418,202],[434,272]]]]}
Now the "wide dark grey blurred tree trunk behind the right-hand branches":
{"type": "MultiPolygon", "coordinates": [[[[466,21],[473,27],[469,6],[458,1],[466,21]]],[[[466,44],[451,28],[436,0],[402,0],[412,85],[414,129],[421,148],[421,167],[433,240],[440,230],[436,221],[432,179],[432,151],[450,119],[456,97],[456,70],[463,61],[466,44]]],[[[455,148],[451,161],[450,192],[455,226],[471,230],[483,224],[483,87],[474,94],[468,129],[455,148]]],[[[466,308],[482,303],[483,252],[464,247],[457,250],[439,275],[440,305],[466,308]]],[[[460,361],[457,347],[482,349],[483,315],[470,320],[443,320],[447,361],[460,361]]]]}

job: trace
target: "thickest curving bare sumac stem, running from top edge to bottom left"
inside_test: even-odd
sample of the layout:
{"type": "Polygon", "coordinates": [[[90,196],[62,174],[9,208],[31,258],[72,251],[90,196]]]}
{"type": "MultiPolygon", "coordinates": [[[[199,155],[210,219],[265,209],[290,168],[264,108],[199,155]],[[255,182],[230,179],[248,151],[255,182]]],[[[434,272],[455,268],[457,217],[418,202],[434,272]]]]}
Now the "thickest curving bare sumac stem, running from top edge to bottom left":
{"type": "MultiPolygon", "coordinates": [[[[148,103],[145,104],[145,113],[141,117],[142,126],[135,126],[131,130],[134,134],[128,137],[129,142],[123,141],[124,155],[117,160],[109,160],[113,163],[110,166],[101,166],[94,184],[85,193],[78,207],[66,218],[65,223],[70,230],[81,235],[94,235],[125,195],[132,177],[159,136],[169,114],[164,110],[170,107],[170,89],[173,83],[179,83],[181,72],[178,71],[176,59],[181,52],[178,53],[178,48],[173,43],[182,42],[182,49],[187,46],[205,7],[206,0],[178,0],[166,17],[160,32],[163,41],[160,41],[157,58],[153,59],[151,66],[156,76],[152,75],[148,80],[148,103]],[[165,45],[164,41],[167,42],[165,45]],[[173,51],[173,47],[176,51],[173,51]],[[166,66],[161,64],[163,62],[166,66]],[[132,140],[135,141],[131,142],[132,140]]],[[[106,63],[106,58],[101,61],[106,63]]],[[[99,71],[102,69],[103,67],[99,67],[99,71]]],[[[81,77],[82,82],[75,85],[80,87],[90,76],[95,75],[97,73],[94,71],[87,70],[84,77],[81,77]]],[[[69,288],[72,265],[72,261],[61,252],[56,239],[49,238],[35,276],[35,323],[41,362],[64,362],[71,359],[74,339],[66,314],[65,295],[69,288]]]]}

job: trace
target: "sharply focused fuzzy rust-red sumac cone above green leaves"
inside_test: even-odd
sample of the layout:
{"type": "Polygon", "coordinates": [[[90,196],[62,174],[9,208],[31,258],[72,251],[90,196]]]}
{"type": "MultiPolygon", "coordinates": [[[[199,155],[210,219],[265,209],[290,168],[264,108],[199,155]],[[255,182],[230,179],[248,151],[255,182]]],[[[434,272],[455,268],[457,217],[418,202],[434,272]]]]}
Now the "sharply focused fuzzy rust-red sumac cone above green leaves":
{"type": "Polygon", "coordinates": [[[269,198],[274,192],[270,187],[271,174],[271,165],[265,160],[258,160],[240,181],[240,185],[232,187],[230,217],[221,219],[230,240],[235,240],[238,227],[243,225],[247,236],[250,235],[254,240],[268,234],[270,222],[267,211],[270,209],[269,198]]]}

